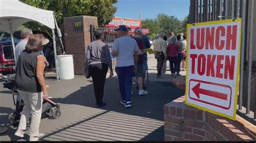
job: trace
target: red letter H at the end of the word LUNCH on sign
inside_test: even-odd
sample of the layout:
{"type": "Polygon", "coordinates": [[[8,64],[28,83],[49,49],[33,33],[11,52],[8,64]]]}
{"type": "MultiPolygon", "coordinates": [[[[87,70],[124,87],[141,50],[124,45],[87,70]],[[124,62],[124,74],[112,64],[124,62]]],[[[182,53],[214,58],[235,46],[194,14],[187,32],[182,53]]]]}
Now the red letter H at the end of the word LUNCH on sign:
{"type": "Polygon", "coordinates": [[[232,33],[231,33],[231,26],[227,26],[227,45],[226,49],[230,49],[231,41],[232,41],[232,47],[231,49],[237,48],[237,25],[232,26],[232,33]]]}

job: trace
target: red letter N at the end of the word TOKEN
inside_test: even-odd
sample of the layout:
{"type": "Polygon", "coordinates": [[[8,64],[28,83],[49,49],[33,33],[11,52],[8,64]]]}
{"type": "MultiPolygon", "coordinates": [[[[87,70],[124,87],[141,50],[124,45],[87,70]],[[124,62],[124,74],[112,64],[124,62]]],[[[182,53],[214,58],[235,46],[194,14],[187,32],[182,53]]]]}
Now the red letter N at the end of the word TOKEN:
{"type": "Polygon", "coordinates": [[[227,79],[227,75],[228,75],[230,77],[230,80],[234,79],[234,63],[235,63],[235,56],[232,55],[231,61],[230,61],[230,56],[226,55],[224,78],[227,79]]]}

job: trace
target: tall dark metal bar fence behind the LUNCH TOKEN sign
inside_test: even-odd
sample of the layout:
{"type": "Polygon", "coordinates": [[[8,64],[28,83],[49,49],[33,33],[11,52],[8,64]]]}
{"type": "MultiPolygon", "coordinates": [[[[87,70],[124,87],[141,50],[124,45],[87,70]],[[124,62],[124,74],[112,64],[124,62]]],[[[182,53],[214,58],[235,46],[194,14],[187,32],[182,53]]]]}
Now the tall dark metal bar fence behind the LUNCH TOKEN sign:
{"type": "Polygon", "coordinates": [[[254,0],[190,0],[189,23],[242,18],[237,114],[256,125],[256,61],[252,60],[254,0]]]}

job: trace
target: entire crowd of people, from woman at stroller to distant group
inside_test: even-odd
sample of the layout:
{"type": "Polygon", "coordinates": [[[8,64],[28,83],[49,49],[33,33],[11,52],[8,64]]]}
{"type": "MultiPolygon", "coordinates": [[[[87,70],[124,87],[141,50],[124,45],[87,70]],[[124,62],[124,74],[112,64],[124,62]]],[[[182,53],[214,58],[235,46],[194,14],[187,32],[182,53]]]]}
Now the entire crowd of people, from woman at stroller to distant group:
{"type": "MultiPolygon", "coordinates": [[[[130,108],[132,106],[133,77],[136,77],[138,95],[147,94],[144,84],[147,71],[147,52],[145,49],[150,48],[151,44],[140,27],[135,29],[132,36],[131,30],[125,25],[120,25],[115,31],[117,31],[117,39],[114,40],[112,53],[109,51],[109,46],[104,43],[104,32],[97,30],[94,33],[96,40],[87,46],[85,57],[90,69],[88,71],[93,80],[96,104],[102,107],[106,105],[103,102],[103,96],[108,69],[110,69],[109,77],[113,76],[110,55],[117,56],[116,73],[121,95],[120,103],[125,108],[130,108]]],[[[49,63],[42,52],[43,45],[48,44],[49,40],[41,34],[33,34],[32,30],[26,28],[21,34],[22,40],[17,44],[15,51],[17,59],[15,87],[25,105],[15,135],[24,137],[26,123],[31,115],[30,141],[37,141],[44,136],[39,133],[39,124],[43,99],[49,97],[48,85],[45,84],[43,76],[44,68],[49,63]]],[[[172,76],[179,75],[181,60],[185,59],[183,54],[186,45],[185,40],[184,35],[175,37],[173,32],[170,38],[167,38],[163,32],[159,34],[159,38],[153,44],[157,59],[158,77],[166,71],[166,60],[170,62],[172,76]]],[[[1,128],[1,132],[4,131],[6,128],[1,128]]]]}

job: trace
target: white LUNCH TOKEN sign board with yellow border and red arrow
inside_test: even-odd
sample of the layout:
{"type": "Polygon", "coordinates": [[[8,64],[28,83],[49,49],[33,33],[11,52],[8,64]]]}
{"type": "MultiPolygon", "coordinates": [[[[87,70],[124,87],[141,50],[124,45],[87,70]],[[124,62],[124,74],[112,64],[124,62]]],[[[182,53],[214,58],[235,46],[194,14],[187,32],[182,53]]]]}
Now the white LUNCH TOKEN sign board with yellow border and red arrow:
{"type": "Polygon", "coordinates": [[[241,19],[187,25],[185,103],[235,120],[241,19]]]}

